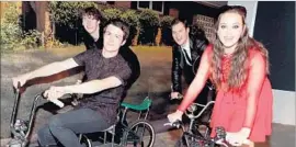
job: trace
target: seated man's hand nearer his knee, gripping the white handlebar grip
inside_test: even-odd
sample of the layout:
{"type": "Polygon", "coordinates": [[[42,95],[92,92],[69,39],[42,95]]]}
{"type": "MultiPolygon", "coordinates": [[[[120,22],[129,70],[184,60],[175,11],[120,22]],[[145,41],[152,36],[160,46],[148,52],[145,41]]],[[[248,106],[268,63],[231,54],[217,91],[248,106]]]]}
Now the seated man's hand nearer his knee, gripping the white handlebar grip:
{"type": "Polygon", "coordinates": [[[64,87],[50,87],[44,92],[44,97],[46,97],[49,101],[59,99],[64,94],[66,94],[66,90],[64,87]]]}

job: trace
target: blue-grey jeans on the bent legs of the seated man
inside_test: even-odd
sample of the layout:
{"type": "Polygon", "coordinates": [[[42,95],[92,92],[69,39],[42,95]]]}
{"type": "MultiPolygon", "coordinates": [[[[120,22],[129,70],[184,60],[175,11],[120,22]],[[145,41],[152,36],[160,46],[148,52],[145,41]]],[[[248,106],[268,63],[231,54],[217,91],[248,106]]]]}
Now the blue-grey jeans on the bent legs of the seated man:
{"type": "Polygon", "coordinates": [[[91,109],[55,115],[48,125],[53,136],[65,147],[82,147],[77,134],[100,132],[109,127],[101,114],[91,109]]]}

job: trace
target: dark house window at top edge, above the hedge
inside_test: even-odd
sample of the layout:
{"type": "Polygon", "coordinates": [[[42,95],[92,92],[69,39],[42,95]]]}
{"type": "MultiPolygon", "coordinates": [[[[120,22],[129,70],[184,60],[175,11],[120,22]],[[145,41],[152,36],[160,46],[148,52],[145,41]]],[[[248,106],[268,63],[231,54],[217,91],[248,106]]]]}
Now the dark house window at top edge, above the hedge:
{"type": "Polygon", "coordinates": [[[137,1],[137,9],[151,9],[159,13],[163,13],[163,1],[137,1]]]}

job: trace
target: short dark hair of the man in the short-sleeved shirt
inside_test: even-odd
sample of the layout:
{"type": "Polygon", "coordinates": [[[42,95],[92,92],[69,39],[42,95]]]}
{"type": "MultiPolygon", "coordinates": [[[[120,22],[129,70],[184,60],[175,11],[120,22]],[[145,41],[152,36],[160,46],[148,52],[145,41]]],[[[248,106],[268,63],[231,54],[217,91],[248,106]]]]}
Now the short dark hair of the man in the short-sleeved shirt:
{"type": "Polygon", "coordinates": [[[119,19],[114,19],[114,20],[110,20],[105,27],[104,27],[104,32],[106,31],[106,27],[107,25],[115,25],[117,27],[119,27],[123,32],[124,32],[124,36],[123,36],[123,41],[127,39],[128,38],[128,35],[129,35],[129,25],[125,22],[123,22],[122,20],[119,19]]]}

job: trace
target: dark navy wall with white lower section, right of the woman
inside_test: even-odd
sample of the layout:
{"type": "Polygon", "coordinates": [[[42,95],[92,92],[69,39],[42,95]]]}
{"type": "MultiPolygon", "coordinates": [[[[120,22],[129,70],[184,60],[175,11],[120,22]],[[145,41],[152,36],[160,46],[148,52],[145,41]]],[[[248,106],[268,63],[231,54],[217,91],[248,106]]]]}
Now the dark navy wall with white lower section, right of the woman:
{"type": "Polygon", "coordinates": [[[295,125],[295,1],[259,1],[253,30],[269,49],[273,122],[295,125]]]}

